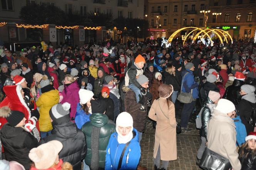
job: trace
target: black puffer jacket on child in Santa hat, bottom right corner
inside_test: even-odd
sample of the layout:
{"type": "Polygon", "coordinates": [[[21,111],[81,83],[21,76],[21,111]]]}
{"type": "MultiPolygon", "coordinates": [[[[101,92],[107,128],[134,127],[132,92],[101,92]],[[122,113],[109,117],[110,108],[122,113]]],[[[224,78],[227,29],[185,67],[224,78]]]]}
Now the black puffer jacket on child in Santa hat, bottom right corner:
{"type": "Polygon", "coordinates": [[[241,162],[241,170],[255,170],[256,169],[256,156],[252,157],[252,150],[248,148],[243,148],[244,155],[241,155],[242,148],[239,148],[239,160],[241,162]],[[248,155],[247,155],[248,153],[248,155]],[[246,157],[247,155],[247,157],[246,157]]]}

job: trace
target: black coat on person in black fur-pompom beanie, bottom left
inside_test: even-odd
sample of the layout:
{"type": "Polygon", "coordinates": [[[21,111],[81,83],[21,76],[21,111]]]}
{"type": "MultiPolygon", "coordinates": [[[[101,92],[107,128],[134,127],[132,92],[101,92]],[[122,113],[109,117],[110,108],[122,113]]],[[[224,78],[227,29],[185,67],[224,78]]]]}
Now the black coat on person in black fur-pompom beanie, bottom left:
{"type": "Polygon", "coordinates": [[[13,127],[5,123],[0,131],[5,159],[16,161],[24,166],[26,170],[31,167],[29,151],[38,146],[37,139],[22,127],[13,127]]]}

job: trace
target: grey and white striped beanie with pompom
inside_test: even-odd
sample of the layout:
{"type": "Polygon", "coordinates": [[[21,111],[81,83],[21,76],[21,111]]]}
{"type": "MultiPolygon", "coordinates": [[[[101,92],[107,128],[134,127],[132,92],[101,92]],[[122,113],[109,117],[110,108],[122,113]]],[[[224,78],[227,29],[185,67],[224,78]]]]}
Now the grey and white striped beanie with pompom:
{"type": "Polygon", "coordinates": [[[54,106],[52,106],[52,108],[49,111],[52,121],[55,121],[56,119],[59,119],[69,114],[69,109],[70,109],[70,104],[67,102],[63,104],[61,103],[55,104],[54,106]]]}

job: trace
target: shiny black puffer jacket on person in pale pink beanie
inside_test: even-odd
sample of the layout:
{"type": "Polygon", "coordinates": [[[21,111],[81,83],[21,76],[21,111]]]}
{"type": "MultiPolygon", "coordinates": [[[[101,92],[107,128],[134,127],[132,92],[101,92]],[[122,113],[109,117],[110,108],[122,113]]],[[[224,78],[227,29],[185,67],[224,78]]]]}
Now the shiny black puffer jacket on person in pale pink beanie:
{"type": "Polygon", "coordinates": [[[216,105],[210,98],[206,98],[204,101],[204,107],[202,108],[201,120],[202,120],[202,128],[199,133],[200,136],[207,138],[207,123],[211,118],[211,113],[216,105]]]}

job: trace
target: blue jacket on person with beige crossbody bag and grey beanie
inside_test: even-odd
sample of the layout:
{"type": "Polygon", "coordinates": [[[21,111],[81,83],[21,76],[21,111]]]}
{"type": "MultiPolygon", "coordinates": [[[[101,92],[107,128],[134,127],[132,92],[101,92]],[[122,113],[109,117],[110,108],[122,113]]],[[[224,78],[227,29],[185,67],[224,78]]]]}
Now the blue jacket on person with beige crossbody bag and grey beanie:
{"type": "Polygon", "coordinates": [[[194,80],[193,72],[189,69],[186,69],[186,71],[182,72],[182,92],[190,93],[192,90],[192,96],[193,99],[199,98],[199,90],[198,90],[198,84],[194,80]],[[188,73],[185,75],[185,73],[188,73]],[[184,77],[185,75],[185,77],[184,77]]]}

